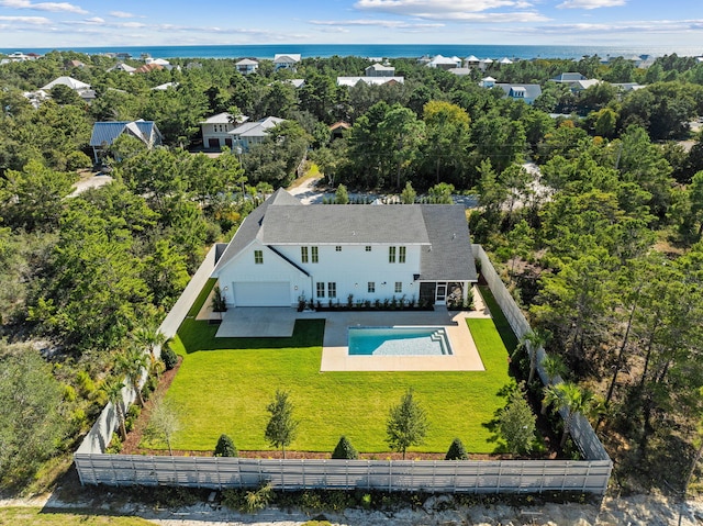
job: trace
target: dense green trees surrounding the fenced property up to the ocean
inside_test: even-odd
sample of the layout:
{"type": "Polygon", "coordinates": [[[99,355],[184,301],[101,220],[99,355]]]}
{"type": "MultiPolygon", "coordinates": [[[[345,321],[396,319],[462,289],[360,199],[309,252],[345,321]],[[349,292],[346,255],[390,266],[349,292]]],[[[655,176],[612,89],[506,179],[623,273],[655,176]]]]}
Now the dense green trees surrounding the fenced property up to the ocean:
{"type": "Polygon", "coordinates": [[[108,72],[108,57],[53,52],[0,67],[0,325],[37,344],[0,359],[20,371],[18,354],[51,357],[69,424],[54,444],[86,429],[118,354],[158,324],[205,247],[313,161],[332,186],[404,189],[404,202],[415,190],[443,201],[451,187],[476,192],[475,239],[504,264],[571,379],[602,394],[598,430],[623,477],[637,467],[651,480],[667,465],[668,482],[682,483],[703,387],[703,146],[690,128],[703,114],[703,65],[538,59],[459,77],[397,59],[404,83],[346,88],[336,77],[362,75],[366,59],[305,58],[298,71],[263,60],[248,76],[231,59],[171,63],[179,68],[131,76],[108,72]],[[69,59],[86,67],[66,69],[69,59]],[[548,80],[563,71],[606,82],[573,92],[548,80]],[[23,97],[60,75],[89,82],[97,99],[58,89],[34,108],[23,97]],[[486,75],[540,83],[543,94],[533,105],[504,99],[478,86],[486,75]],[[241,156],[189,153],[199,122],[224,111],[287,121],[241,156]],[[120,138],[109,153],[115,182],[70,197],[76,170],[91,165],[93,122],[135,119],[156,121],[166,146],[120,138]],[[349,130],[331,141],[337,121],[349,130]]]}

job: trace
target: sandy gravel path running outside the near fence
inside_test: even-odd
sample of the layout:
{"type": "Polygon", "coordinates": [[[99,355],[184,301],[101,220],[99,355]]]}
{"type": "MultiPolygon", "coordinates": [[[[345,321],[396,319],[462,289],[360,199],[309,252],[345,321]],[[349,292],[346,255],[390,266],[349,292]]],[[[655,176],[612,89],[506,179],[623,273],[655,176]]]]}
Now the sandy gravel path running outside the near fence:
{"type": "MultiPolygon", "coordinates": [[[[680,505],[661,495],[606,497],[600,504],[544,504],[529,507],[509,505],[458,507],[440,511],[450,496],[432,496],[423,507],[395,512],[371,512],[358,508],[342,514],[324,514],[334,525],[346,526],[698,526],[703,523],[703,501],[680,505]],[[680,516],[681,515],[681,516],[680,516]]],[[[154,510],[142,504],[111,506],[109,502],[62,503],[54,499],[0,500],[0,507],[38,506],[47,510],[101,510],[134,515],[161,526],[300,526],[319,514],[267,508],[256,515],[244,515],[208,503],[180,510],[154,510]]]]}

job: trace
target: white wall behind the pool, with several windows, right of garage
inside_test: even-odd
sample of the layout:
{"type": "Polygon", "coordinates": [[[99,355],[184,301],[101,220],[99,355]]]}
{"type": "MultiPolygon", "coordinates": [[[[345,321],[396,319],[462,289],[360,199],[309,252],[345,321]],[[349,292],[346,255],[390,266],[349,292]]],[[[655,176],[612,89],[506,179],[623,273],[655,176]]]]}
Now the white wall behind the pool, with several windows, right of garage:
{"type": "MultiPolygon", "coordinates": [[[[305,289],[305,299],[320,300],[326,305],[328,302],[328,282],[337,283],[337,299],[339,303],[346,303],[347,296],[354,294],[354,301],[375,301],[391,299],[393,295],[406,300],[413,296],[420,299],[420,282],[413,281],[413,275],[420,273],[420,256],[423,247],[404,245],[406,247],[405,262],[399,261],[400,245],[395,246],[395,262],[390,264],[388,258],[388,245],[370,245],[371,251],[366,251],[366,245],[341,245],[342,251],[336,251],[336,245],[316,245],[319,262],[312,262],[312,245],[308,246],[309,259],[306,264],[301,260],[300,246],[278,246],[277,249],[284,254],[291,261],[304,268],[312,276],[312,294],[310,287],[305,289]],[[368,283],[376,283],[376,292],[368,292],[368,283]],[[403,283],[403,291],[395,293],[395,282],[403,283]],[[325,283],[325,296],[317,298],[315,283],[325,283]],[[383,286],[382,283],[386,282],[383,286]]],[[[424,247],[427,249],[427,247],[424,247]]],[[[301,289],[302,290],[302,289],[301,289]]]]}

